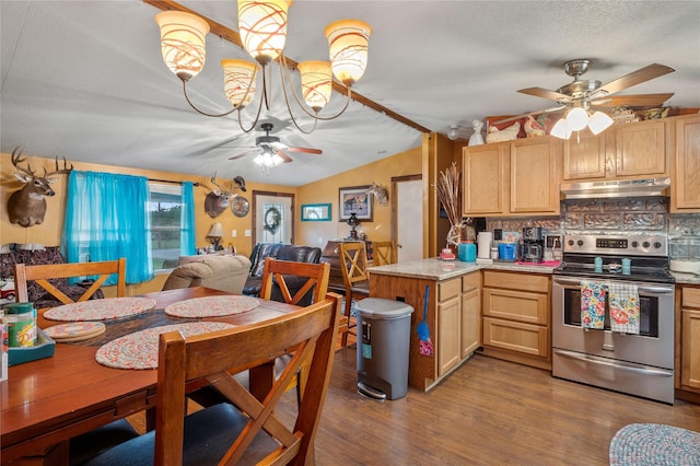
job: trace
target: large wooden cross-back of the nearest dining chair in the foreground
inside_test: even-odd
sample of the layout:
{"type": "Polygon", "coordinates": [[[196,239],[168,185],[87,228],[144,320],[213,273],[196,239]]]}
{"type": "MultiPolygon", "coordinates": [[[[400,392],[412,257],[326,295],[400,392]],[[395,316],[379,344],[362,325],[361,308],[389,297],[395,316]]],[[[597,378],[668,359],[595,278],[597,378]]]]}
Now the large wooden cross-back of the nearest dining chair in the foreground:
{"type": "MultiPolygon", "coordinates": [[[[253,438],[265,430],[280,442],[266,459],[271,464],[307,464],[318,429],[334,361],[334,340],[340,296],[329,293],[312,304],[259,324],[184,338],[179,331],[160,336],[158,404],[155,408],[155,464],[183,462],[186,385],[206,378],[249,419],[220,464],[237,464],[253,438]],[[238,372],[296,348],[282,375],[260,403],[231,372],[238,372]],[[275,406],[301,362],[311,358],[308,387],[292,430],[275,417],[275,406]],[[277,463],[276,463],[277,464],[277,463]]],[[[206,439],[205,439],[206,441],[206,439]]]]}

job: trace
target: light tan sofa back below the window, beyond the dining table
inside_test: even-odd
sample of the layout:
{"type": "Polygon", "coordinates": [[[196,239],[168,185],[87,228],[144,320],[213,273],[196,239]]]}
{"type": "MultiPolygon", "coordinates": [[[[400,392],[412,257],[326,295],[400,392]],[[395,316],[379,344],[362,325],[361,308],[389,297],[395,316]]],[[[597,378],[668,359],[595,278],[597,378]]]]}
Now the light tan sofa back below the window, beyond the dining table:
{"type": "Polygon", "coordinates": [[[250,260],[245,256],[183,256],[163,283],[163,290],[208,287],[241,294],[249,270],[250,260]]]}

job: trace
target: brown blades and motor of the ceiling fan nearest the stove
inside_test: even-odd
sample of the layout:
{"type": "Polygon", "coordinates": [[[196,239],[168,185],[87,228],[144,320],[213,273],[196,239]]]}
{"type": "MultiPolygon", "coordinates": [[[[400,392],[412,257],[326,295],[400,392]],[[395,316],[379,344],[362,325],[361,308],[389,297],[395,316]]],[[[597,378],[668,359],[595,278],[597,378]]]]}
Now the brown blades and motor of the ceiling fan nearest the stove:
{"type": "Polygon", "coordinates": [[[535,97],[549,98],[557,102],[557,106],[539,112],[530,112],[523,115],[510,117],[497,123],[504,123],[529,115],[559,112],[574,107],[582,107],[586,110],[591,107],[646,107],[662,105],[673,93],[662,94],[638,94],[638,95],[618,95],[612,96],[620,91],[637,84],[660,78],[664,74],[674,72],[675,70],[665,65],[652,63],[644,68],[640,68],[629,74],[615,79],[605,85],[597,80],[584,80],[581,77],[588,71],[591,60],[578,59],[567,61],[563,66],[564,72],[573,78],[573,82],[550,91],[542,88],[521,89],[520,93],[533,95],[535,97]]]}

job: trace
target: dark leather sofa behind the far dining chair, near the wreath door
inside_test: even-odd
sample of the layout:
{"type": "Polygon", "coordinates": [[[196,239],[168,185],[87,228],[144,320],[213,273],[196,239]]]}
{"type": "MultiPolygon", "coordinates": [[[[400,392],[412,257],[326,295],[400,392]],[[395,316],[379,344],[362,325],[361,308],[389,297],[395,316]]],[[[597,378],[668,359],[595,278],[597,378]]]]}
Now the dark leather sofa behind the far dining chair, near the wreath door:
{"type": "MultiPolygon", "coordinates": [[[[243,287],[243,294],[250,296],[259,296],[262,287],[262,271],[265,270],[265,259],[271,257],[278,260],[290,260],[295,263],[318,264],[320,260],[320,248],[312,246],[295,246],[293,244],[282,243],[258,243],[250,253],[250,270],[243,287]]],[[[300,278],[287,280],[288,287],[292,294],[303,286],[306,279],[300,278]],[[299,284],[296,284],[299,281],[299,284]]],[[[271,299],[275,301],[283,301],[277,283],[272,286],[271,299]]],[[[311,295],[304,296],[300,302],[301,305],[311,304],[311,295]]]]}

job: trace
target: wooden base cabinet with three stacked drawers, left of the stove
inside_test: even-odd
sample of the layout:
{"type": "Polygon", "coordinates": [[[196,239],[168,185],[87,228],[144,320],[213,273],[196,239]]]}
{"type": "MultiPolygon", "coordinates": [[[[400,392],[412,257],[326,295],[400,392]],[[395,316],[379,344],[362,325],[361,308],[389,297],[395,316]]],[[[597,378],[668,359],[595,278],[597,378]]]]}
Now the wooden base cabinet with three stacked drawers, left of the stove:
{"type": "Polygon", "coordinates": [[[483,271],[482,352],[551,369],[550,277],[483,271]]]}

